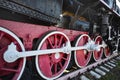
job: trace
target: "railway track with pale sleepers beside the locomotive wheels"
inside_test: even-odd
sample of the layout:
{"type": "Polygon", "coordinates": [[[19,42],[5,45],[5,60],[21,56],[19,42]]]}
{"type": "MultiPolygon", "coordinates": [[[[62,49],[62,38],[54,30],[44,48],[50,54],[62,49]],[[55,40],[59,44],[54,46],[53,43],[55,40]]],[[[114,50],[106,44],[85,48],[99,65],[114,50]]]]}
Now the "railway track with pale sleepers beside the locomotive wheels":
{"type": "Polygon", "coordinates": [[[102,59],[98,62],[92,63],[85,68],[77,69],[69,72],[56,80],[91,80],[100,79],[102,76],[110,72],[117,65],[120,60],[118,53],[112,54],[110,57],[102,59]]]}

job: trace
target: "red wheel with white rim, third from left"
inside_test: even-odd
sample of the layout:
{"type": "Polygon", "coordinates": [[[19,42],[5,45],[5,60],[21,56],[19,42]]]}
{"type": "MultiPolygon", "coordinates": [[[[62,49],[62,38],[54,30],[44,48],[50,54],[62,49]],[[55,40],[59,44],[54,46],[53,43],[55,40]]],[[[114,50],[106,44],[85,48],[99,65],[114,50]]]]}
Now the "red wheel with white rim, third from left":
{"type": "MultiPolygon", "coordinates": [[[[75,47],[83,46],[89,40],[90,40],[90,37],[87,34],[83,34],[76,39],[75,47]]],[[[87,50],[74,51],[74,58],[75,58],[76,65],[80,68],[85,67],[89,63],[91,55],[92,55],[91,52],[88,52],[87,50]]]]}

